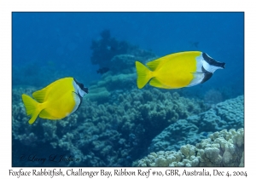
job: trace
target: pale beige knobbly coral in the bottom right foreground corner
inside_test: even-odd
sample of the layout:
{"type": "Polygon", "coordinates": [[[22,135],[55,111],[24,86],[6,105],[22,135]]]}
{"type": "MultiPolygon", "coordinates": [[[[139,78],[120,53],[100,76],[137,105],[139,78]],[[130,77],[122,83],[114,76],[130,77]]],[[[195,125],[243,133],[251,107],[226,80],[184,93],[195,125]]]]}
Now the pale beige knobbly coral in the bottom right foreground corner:
{"type": "Polygon", "coordinates": [[[244,131],[221,130],[193,145],[184,145],[180,150],[150,153],[138,160],[137,166],[244,166],[244,131]]]}

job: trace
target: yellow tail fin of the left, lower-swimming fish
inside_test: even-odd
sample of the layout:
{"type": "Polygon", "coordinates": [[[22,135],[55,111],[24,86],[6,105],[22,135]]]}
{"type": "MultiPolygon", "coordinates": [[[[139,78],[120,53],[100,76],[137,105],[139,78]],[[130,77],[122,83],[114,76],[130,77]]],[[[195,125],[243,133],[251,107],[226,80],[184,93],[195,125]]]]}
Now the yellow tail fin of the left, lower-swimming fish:
{"type": "Polygon", "coordinates": [[[40,103],[25,94],[22,95],[22,101],[26,107],[26,114],[32,116],[28,123],[33,124],[38,118],[38,114],[42,111],[42,108],[39,106],[40,103]]]}

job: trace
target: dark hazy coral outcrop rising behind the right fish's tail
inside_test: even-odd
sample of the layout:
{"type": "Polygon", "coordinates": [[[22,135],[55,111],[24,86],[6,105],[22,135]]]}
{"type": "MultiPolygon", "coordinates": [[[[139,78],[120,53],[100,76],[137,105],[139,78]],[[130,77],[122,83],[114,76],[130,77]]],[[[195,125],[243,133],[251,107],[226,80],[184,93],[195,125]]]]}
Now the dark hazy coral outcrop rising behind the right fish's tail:
{"type": "Polygon", "coordinates": [[[135,61],[155,57],[152,52],[112,38],[109,30],[101,33],[101,39],[93,40],[90,49],[90,61],[93,65],[98,65],[100,69],[108,67],[115,73],[131,72],[135,61]]]}

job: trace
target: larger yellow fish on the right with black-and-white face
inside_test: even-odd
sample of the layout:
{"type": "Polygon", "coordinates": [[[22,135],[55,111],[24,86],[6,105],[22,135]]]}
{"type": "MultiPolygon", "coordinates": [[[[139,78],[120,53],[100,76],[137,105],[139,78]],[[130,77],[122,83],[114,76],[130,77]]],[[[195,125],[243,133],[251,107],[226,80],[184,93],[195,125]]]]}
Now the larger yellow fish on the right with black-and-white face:
{"type": "Polygon", "coordinates": [[[151,86],[179,89],[202,84],[225,63],[215,61],[204,52],[186,51],[160,57],[144,66],[136,61],[137,87],[142,89],[150,80],[151,86]],[[148,69],[149,68],[149,69],[148,69]]]}

